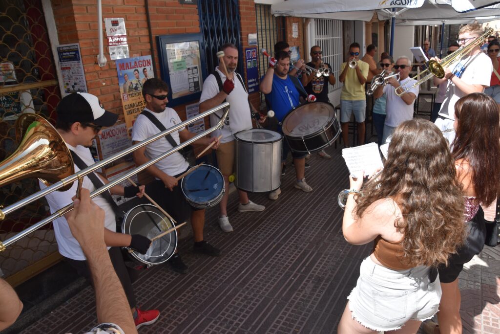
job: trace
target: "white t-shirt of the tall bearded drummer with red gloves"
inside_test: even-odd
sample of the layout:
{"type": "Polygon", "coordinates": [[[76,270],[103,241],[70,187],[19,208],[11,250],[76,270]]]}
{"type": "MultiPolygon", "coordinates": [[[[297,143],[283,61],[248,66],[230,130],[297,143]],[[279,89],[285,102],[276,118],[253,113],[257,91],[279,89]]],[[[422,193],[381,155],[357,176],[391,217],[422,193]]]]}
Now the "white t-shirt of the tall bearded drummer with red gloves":
{"type": "MultiPolygon", "coordinates": [[[[226,79],[226,76],[219,71],[218,67],[215,68],[215,71],[220,75],[220,79],[222,80],[222,84],[226,79]]],[[[233,79],[231,80],[234,84],[234,89],[231,93],[225,98],[227,102],[229,102],[229,126],[224,125],[222,129],[213,131],[211,136],[218,137],[222,135],[220,139],[221,143],[227,143],[231,140],[234,140],[232,137],[233,134],[248,130],[252,128],[251,124],[251,115],[250,115],[250,106],[248,106],[248,94],[245,91],[245,88],[239,82],[239,79],[236,78],[236,73],[233,75],[233,79]]],[[[199,98],[199,103],[202,103],[206,100],[213,98],[215,95],[219,93],[219,88],[217,85],[217,79],[213,75],[209,75],[208,78],[203,82],[203,90],[201,91],[201,97],[199,98]]],[[[222,111],[216,112],[218,116],[222,116],[222,111]]],[[[219,118],[213,114],[210,115],[210,124],[214,125],[219,121],[219,118]]]]}

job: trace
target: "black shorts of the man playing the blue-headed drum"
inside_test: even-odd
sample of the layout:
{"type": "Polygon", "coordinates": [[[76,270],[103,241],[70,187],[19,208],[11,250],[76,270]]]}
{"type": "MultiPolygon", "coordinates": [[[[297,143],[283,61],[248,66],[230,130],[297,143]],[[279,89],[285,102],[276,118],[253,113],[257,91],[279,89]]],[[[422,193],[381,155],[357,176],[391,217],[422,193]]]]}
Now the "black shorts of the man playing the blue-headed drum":
{"type": "MultiPolygon", "coordinates": [[[[184,172],[174,175],[174,177],[178,177],[184,172]]],[[[172,191],[165,188],[165,185],[160,180],[154,180],[147,186],[146,189],[149,196],[151,196],[151,198],[179,224],[186,221],[192,211],[204,210],[195,208],[186,201],[186,198],[180,189],[180,181],[181,180],[177,182],[177,185],[173,187],[172,191]]]]}

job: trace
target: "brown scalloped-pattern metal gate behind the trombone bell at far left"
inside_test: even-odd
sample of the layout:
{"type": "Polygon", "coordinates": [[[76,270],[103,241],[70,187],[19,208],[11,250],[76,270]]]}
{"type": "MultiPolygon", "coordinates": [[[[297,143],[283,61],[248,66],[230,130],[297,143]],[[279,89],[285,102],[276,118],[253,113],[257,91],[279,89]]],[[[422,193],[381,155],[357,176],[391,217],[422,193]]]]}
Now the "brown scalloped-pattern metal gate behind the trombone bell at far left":
{"type": "MultiPolygon", "coordinates": [[[[40,0],[0,1],[0,161],[17,147],[14,122],[21,113],[37,113],[53,124],[60,101],[54,60],[40,0]]],[[[7,206],[38,190],[25,179],[0,187],[0,205],[7,206]]],[[[44,200],[12,212],[0,221],[0,239],[47,215],[44,200]]],[[[22,238],[0,253],[0,276],[15,285],[57,260],[51,225],[22,238]],[[40,259],[43,263],[40,264],[40,259]]]]}

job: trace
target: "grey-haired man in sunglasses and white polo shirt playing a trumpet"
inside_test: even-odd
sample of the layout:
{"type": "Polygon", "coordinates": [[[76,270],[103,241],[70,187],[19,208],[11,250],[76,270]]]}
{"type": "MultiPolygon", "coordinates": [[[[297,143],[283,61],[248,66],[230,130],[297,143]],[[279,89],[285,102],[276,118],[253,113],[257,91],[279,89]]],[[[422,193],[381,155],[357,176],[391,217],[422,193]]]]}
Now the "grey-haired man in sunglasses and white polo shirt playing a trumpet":
{"type": "Polygon", "coordinates": [[[416,80],[409,78],[409,70],[411,68],[411,61],[408,57],[399,57],[394,65],[396,73],[399,73],[399,80],[394,77],[387,79],[387,85],[378,86],[373,93],[375,99],[378,99],[383,94],[386,94],[385,104],[385,123],[383,125],[382,143],[388,136],[392,134],[394,129],[404,121],[413,118],[413,104],[418,96],[418,86],[410,88],[416,80]],[[409,88],[406,93],[397,96],[395,89],[404,91],[409,88]]]}

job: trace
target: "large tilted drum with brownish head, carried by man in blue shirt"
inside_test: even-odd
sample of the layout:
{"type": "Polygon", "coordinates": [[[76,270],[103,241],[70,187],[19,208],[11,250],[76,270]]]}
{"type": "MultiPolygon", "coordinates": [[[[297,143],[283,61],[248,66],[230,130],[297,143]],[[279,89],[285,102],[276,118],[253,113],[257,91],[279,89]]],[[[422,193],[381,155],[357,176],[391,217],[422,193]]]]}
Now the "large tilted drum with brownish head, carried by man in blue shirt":
{"type": "Polygon", "coordinates": [[[315,102],[291,110],[281,122],[288,146],[310,153],[330,146],[340,134],[340,122],[329,103],[315,102]]]}

